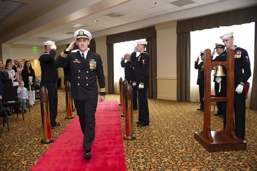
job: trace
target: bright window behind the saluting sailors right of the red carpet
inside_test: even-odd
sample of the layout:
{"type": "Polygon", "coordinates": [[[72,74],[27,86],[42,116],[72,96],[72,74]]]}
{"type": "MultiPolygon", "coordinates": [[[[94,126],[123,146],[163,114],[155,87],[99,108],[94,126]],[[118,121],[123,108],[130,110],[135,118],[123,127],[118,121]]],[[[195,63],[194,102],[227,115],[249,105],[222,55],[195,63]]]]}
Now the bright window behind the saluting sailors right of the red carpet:
{"type": "MultiPolygon", "coordinates": [[[[141,39],[146,41],[145,39],[141,39]]],[[[128,42],[121,42],[113,44],[113,53],[114,53],[114,60],[113,60],[113,68],[114,68],[114,92],[116,91],[116,82],[120,82],[120,78],[124,80],[125,73],[124,68],[121,67],[121,58],[124,57],[126,53],[132,53],[134,51],[135,46],[137,45],[137,41],[128,41],[128,42]]],[[[140,53],[137,52],[136,56],[140,53]]],[[[125,60],[126,62],[127,60],[125,60]]]]}

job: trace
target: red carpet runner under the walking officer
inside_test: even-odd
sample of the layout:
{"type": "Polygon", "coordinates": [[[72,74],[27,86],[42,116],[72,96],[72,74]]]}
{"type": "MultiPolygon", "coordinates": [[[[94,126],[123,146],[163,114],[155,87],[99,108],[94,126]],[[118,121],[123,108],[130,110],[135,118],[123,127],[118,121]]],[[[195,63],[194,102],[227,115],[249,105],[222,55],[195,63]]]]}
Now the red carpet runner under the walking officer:
{"type": "Polygon", "coordinates": [[[76,116],[31,170],[125,171],[121,118],[117,101],[98,102],[95,117],[96,137],[91,148],[91,159],[83,158],[83,134],[76,116]]]}

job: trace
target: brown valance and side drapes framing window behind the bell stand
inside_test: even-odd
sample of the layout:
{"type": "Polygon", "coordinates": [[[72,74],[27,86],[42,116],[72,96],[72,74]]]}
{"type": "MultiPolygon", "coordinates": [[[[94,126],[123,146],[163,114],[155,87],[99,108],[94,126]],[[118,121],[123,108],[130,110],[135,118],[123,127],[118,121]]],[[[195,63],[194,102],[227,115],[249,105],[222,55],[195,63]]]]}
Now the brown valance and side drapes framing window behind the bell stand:
{"type": "MultiPolygon", "coordinates": [[[[203,17],[198,17],[198,18],[193,18],[189,20],[184,20],[184,21],[179,21],[177,22],[177,34],[180,33],[190,33],[190,31],[196,31],[196,30],[204,30],[204,29],[212,29],[215,27],[220,27],[220,26],[231,26],[231,25],[240,25],[240,24],[245,24],[245,23],[251,23],[255,22],[255,42],[256,42],[256,22],[257,22],[257,7],[251,7],[251,8],[245,8],[245,9],[238,9],[235,11],[230,11],[230,12],[225,12],[225,13],[219,13],[219,14],[213,14],[213,15],[208,15],[208,16],[203,16],[203,17]]],[[[177,35],[177,60],[182,58],[182,54],[180,53],[181,49],[185,49],[183,47],[183,42],[185,41],[180,38],[181,35],[177,35]],[[178,48],[181,49],[178,49],[178,48]]],[[[190,39],[188,39],[186,44],[190,46],[190,39]]],[[[184,42],[185,43],[185,42],[184,42]]],[[[257,46],[255,45],[255,63],[254,63],[254,73],[257,71],[257,55],[256,55],[256,49],[257,46]]],[[[190,53],[187,54],[186,59],[190,60],[190,53]],[[189,55],[189,56],[188,56],[189,55]]],[[[187,66],[186,60],[179,60],[177,61],[177,70],[178,68],[183,68],[187,66]]],[[[190,61],[189,61],[190,63],[190,61]]],[[[253,74],[254,74],[253,73],[253,74]]],[[[190,91],[188,91],[186,86],[182,85],[181,81],[184,78],[181,78],[181,72],[177,71],[177,100],[178,101],[187,101],[187,98],[182,98],[182,95],[186,94],[185,97],[190,97],[190,91]],[[181,79],[181,80],[180,80],[181,79]]],[[[186,84],[190,84],[190,75],[186,77],[186,84]]],[[[189,85],[190,86],[190,85],[189,85]]],[[[251,104],[250,108],[251,109],[257,109],[257,99],[256,99],[256,92],[257,92],[257,79],[256,79],[256,74],[253,75],[253,85],[252,85],[252,93],[251,93],[251,104]]]]}

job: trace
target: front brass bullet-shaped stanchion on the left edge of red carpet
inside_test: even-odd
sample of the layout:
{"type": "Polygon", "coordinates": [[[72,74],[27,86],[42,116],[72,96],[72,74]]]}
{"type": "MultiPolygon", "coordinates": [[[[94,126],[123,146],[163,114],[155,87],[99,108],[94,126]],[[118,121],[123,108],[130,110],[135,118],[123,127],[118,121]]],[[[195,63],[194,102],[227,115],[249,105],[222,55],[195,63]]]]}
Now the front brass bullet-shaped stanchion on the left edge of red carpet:
{"type": "Polygon", "coordinates": [[[41,139],[41,143],[49,144],[54,142],[55,139],[52,138],[48,92],[44,86],[40,89],[40,106],[43,125],[43,139],[41,139]]]}

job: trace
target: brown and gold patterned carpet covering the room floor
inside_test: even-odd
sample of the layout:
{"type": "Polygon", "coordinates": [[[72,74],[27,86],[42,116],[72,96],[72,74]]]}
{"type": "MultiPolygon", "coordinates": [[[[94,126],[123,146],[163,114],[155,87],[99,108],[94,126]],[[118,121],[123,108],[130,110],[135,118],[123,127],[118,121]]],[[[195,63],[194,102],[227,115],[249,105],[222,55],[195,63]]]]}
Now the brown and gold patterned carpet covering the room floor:
{"type": "MultiPolygon", "coordinates": [[[[57,121],[61,126],[52,130],[54,138],[71,122],[65,119],[65,90],[58,89],[58,96],[57,121]]],[[[119,95],[107,94],[105,100],[119,101],[119,95]]],[[[209,153],[194,139],[194,131],[201,131],[203,127],[203,112],[196,110],[199,103],[160,99],[148,99],[148,102],[150,125],[136,127],[138,113],[135,111],[136,139],[124,140],[128,171],[257,170],[257,110],[250,110],[251,116],[246,114],[246,150],[209,153]]],[[[212,106],[212,130],[221,130],[223,120],[213,113],[212,106]]],[[[0,125],[0,170],[30,170],[51,145],[40,143],[43,134],[38,100],[31,112],[24,114],[25,120],[21,115],[18,118],[9,116],[8,119],[10,132],[6,126],[0,125]]],[[[122,117],[121,121],[125,134],[125,118],[122,117]]]]}

